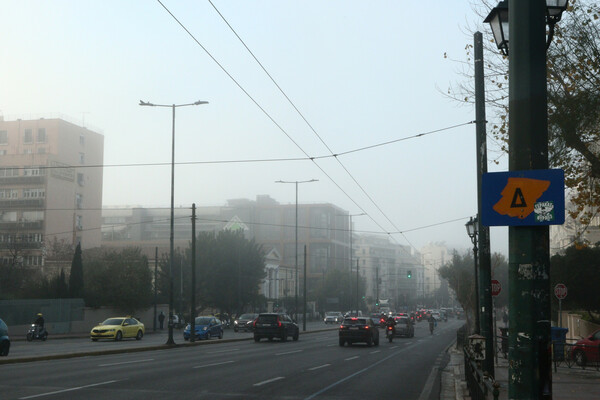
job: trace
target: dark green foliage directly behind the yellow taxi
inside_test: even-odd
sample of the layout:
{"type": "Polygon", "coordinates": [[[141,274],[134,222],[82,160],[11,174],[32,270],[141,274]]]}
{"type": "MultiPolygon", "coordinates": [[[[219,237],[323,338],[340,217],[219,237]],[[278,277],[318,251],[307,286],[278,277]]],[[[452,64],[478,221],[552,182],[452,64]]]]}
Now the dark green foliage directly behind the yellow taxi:
{"type": "Polygon", "coordinates": [[[134,314],[152,304],[152,275],[139,248],[86,250],[83,259],[87,306],[134,314]]]}

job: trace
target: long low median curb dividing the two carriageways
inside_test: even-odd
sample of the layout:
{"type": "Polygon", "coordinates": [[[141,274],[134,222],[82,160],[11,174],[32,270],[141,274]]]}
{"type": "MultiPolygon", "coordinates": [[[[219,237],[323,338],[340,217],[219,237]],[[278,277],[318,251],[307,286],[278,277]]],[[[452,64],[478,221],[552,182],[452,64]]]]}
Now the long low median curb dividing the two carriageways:
{"type": "MultiPolygon", "coordinates": [[[[300,335],[306,335],[311,333],[320,333],[331,331],[332,329],[317,329],[313,331],[305,331],[300,332],[300,335]]],[[[83,338],[88,337],[89,335],[83,336],[83,338]]],[[[18,364],[18,363],[26,363],[26,362],[34,362],[34,361],[48,361],[48,360],[63,360],[68,358],[77,358],[77,357],[90,357],[90,356],[102,356],[102,355],[111,355],[111,354],[121,354],[121,353],[141,353],[143,351],[154,351],[154,350],[170,350],[181,347],[193,347],[193,346],[207,346],[207,345],[217,345],[220,343],[233,343],[233,342],[243,342],[253,340],[252,337],[247,338],[239,338],[239,339],[221,339],[221,340],[203,340],[198,342],[184,342],[184,343],[176,343],[176,344],[161,344],[154,346],[145,346],[145,347],[133,347],[133,348],[124,348],[124,349],[111,349],[111,350],[98,350],[98,351],[85,351],[80,353],[66,353],[66,354],[50,354],[47,356],[37,356],[37,357],[22,357],[22,358],[3,358],[0,359],[0,365],[4,364],[18,364]]]]}

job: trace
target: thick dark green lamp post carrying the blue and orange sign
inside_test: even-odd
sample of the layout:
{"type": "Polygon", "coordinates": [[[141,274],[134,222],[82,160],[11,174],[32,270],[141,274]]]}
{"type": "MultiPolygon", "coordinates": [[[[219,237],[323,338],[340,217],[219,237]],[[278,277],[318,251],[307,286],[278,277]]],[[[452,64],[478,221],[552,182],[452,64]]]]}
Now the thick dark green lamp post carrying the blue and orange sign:
{"type": "MultiPolygon", "coordinates": [[[[508,54],[511,171],[548,168],[546,49],[567,4],[505,0],[484,21],[490,23],[500,51],[508,54]]],[[[508,227],[511,399],[552,398],[549,243],[547,225],[508,227]]]]}

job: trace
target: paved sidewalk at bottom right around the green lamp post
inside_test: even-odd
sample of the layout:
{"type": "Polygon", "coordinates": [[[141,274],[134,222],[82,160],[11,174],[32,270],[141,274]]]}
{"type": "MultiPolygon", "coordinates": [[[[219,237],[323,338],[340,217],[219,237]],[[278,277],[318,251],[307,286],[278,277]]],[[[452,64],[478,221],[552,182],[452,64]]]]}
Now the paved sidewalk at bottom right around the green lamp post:
{"type": "MultiPolygon", "coordinates": [[[[465,381],[464,358],[462,350],[452,346],[448,353],[450,361],[442,371],[440,400],[470,399],[465,381]]],[[[501,400],[508,399],[508,360],[499,357],[495,367],[496,382],[500,384],[501,400]]],[[[559,366],[552,369],[552,397],[558,400],[597,400],[600,399],[600,371],[581,369],[573,366],[559,366]]],[[[489,399],[493,399],[490,394],[489,399]]]]}

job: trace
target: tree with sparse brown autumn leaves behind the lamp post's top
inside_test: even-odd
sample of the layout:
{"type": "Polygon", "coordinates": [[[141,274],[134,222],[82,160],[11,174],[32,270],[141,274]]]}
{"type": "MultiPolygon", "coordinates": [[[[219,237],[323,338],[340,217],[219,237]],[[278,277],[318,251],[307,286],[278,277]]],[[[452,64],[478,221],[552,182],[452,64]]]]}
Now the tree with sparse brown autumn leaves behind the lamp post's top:
{"type": "MultiPolygon", "coordinates": [[[[482,20],[495,6],[493,1],[473,4],[482,20]]],[[[492,133],[507,151],[508,58],[500,55],[489,37],[484,40],[486,104],[494,115],[492,133]]],[[[464,65],[469,68],[472,49],[467,46],[464,65]]],[[[587,225],[600,207],[600,6],[596,1],[571,0],[556,25],[547,66],[549,162],[565,171],[573,204],[570,216],[587,225]]],[[[450,88],[448,95],[472,102],[473,73],[463,75],[467,81],[450,88]]]]}

